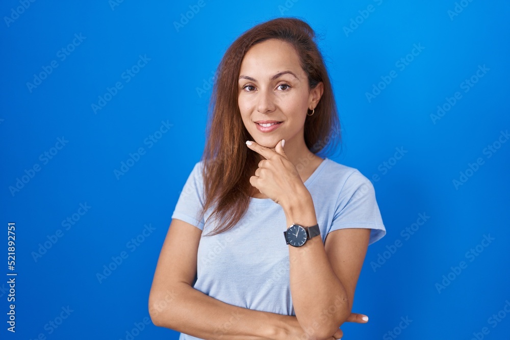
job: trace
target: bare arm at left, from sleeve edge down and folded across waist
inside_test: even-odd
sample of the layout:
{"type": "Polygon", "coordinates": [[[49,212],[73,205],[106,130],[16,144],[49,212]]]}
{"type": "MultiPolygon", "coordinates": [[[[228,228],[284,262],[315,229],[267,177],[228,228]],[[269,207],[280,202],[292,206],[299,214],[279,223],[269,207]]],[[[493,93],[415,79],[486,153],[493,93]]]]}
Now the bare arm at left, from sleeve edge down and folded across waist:
{"type": "Polygon", "coordinates": [[[172,220],[149,294],[152,323],[204,339],[302,338],[296,317],[233,306],[192,287],[200,235],[172,220]]]}

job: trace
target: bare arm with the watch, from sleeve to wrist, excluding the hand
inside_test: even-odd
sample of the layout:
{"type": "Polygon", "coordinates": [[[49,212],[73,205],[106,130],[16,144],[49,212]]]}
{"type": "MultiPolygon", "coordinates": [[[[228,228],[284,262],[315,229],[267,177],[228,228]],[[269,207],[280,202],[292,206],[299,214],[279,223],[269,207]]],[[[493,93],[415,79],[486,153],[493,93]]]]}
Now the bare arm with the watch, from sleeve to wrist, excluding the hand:
{"type": "MultiPolygon", "coordinates": [[[[317,223],[312,198],[284,203],[287,226],[317,223]]],[[[304,198],[303,198],[304,197],[304,198]]],[[[312,338],[330,339],[351,314],[354,290],[368,248],[370,229],[330,232],[301,247],[289,245],[290,287],[296,317],[312,338]],[[331,265],[334,264],[334,265],[331,265]]]]}

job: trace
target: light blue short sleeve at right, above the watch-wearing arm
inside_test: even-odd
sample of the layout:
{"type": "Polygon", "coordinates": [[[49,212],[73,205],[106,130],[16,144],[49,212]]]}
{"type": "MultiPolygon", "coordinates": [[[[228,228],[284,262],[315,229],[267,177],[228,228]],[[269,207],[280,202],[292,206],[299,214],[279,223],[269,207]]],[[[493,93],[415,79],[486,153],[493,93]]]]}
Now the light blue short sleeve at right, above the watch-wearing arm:
{"type": "Polygon", "coordinates": [[[345,180],[327,233],[343,228],[371,229],[369,245],[386,234],[372,182],[358,170],[345,180]]]}

